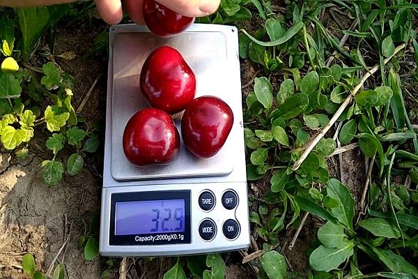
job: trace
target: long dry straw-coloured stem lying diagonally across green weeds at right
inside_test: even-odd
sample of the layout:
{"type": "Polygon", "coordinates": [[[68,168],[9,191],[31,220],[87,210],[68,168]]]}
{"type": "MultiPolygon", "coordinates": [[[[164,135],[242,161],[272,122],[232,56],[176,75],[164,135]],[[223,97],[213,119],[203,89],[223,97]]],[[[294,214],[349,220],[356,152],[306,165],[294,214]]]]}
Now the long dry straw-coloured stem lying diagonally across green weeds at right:
{"type": "MultiPolygon", "coordinates": [[[[389,58],[385,59],[385,65],[387,63],[389,63],[389,61],[396,54],[398,54],[398,52],[400,52],[405,47],[405,45],[406,44],[403,43],[402,45],[399,45],[398,47],[396,47],[396,50],[394,51],[394,54],[392,54],[392,56],[390,56],[389,58]]],[[[312,149],[314,149],[316,144],[318,144],[318,142],[325,136],[325,134],[328,132],[328,130],[330,130],[330,128],[334,125],[334,123],[337,121],[337,119],[339,119],[339,116],[341,116],[341,114],[343,114],[344,110],[346,110],[346,107],[348,107],[348,105],[350,105],[351,101],[355,97],[355,94],[360,90],[360,88],[362,88],[364,82],[366,82],[366,80],[369,79],[369,77],[371,77],[371,75],[376,73],[379,70],[379,68],[380,68],[380,65],[377,64],[368,73],[366,73],[366,75],[364,75],[361,82],[359,84],[357,84],[357,86],[355,86],[353,91],[351,91],[350,96],[348,96],[346,98],[346,100],[344,100],[344,102],[341,104],[341,106],[336,111],[334,116],[332,116],[332,119],[327,124],[327,126],[325,126],[325,128],[314,138],[314,140],[312,140],[311,142],[308,143],[308,146],[305,149],[304,153],[302,153],[302,156],[300,156],[299,160],[297,160],[295,165],[293,165],[293,170],[298,169],[300,167],[300,165],[302,165],[304,160],[308,157],[309,153],[311,153],[312,149]]]]}

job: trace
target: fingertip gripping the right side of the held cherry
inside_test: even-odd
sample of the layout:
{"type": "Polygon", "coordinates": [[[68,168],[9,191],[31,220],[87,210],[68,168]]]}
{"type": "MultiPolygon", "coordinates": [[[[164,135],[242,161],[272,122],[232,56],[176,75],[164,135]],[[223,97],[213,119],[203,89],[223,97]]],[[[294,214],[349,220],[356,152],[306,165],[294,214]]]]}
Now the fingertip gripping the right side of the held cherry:
{"type": "Polygon", "coordinates": [[[220,0],[157,0],[167,8],[187,17],[204,17],[215,13],[220,0]]]}

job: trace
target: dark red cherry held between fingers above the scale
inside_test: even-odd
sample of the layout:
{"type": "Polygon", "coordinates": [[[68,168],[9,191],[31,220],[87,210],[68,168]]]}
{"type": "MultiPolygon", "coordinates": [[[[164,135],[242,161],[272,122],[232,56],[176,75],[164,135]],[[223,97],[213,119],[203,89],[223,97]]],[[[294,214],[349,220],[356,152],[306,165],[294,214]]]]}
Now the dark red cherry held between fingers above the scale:
{"type": "Polygon", "coordinates": [[[154,0],[144,0],[143,13],[148,29],[164,38],[182,33],[194,22],[194,17],[180,15],[154,0]]]}

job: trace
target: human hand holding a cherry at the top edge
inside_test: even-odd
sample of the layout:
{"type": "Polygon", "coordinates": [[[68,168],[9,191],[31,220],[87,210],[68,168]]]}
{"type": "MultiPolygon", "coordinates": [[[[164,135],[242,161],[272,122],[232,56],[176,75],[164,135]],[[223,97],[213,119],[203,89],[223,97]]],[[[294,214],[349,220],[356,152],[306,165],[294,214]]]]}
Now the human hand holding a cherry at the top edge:
{"type": "MultiPolygon", "coordinates": [[[[0,6],[31,7],[70,3],[76,0],[0,0],[0,6]]],[[[118,24],[122,20],[121,0],[94,0],[102,19],[109,24],[118,24]]],[[[131,19],[144,24],[142,16],[143,0],[122,0],[131,19]]],[[[187,17],[203,17],[215,13],[220,0],[157,0],[167,8],[187,17]]]]}

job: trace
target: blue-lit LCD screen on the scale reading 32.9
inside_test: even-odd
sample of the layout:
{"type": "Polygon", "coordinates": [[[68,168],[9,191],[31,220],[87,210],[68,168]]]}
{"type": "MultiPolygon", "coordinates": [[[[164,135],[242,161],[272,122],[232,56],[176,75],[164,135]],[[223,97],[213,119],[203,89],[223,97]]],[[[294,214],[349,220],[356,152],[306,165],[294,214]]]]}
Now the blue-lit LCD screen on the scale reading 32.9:
{"type": "Polygon", "coordinates": [[[115,235],[185,232],[185,200],[116,202],[115,235]]]}

